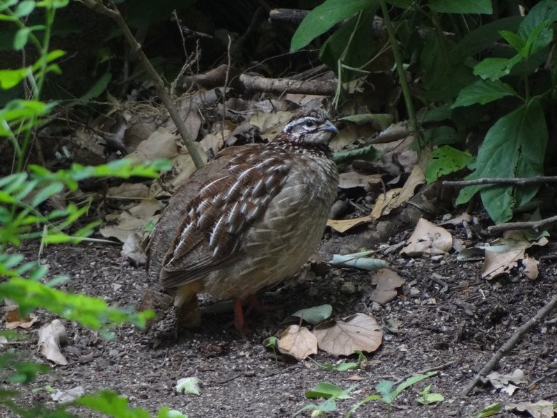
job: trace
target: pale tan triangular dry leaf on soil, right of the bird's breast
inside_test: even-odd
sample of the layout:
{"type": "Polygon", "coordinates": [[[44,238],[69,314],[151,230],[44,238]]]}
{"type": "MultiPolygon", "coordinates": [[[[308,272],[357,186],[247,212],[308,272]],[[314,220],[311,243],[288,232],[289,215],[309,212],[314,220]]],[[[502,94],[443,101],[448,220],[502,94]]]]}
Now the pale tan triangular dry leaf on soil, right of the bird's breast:
{"type": "Polygon", "coordinates": [[[400,254],[411,257],[424,254],[436,256],[447,253],[451,248],[453,248],[453,236],[448,231],[420,218],[407,246],[400,250],[400,254]]]}

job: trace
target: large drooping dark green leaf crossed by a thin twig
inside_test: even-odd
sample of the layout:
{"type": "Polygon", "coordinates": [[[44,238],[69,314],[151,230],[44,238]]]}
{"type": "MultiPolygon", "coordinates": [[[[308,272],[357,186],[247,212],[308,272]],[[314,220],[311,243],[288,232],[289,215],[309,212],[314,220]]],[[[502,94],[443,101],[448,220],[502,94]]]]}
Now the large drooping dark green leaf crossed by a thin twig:
{"type": "MultiPolygon", "coordinates": [[[[538,98],[503,116],[487,132],[478,150],[476,171],[466,180],[476,178],[515,178],[540,176],[547,146],[547,125],[538,98]]],[[[512,208],[522,206],[538,192],[539,186],[464,187],[457,204],[466,203],[481,190],[484,206],[497,224],[512,217],[512,208]],[[514,190],[514,193],[513,193],[514,190]]]]}

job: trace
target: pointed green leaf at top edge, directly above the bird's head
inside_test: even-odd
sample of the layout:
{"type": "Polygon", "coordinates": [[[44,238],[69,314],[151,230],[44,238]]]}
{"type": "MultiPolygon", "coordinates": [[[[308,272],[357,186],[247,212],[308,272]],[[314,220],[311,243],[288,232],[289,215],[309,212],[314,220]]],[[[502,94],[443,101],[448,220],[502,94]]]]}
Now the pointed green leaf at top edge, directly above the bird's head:
{"type": "Polygon", "coordinates": [[[377,7],[377,0],[326,0],[302,20],[290,42],[290,52],[295,52],[322,35],[334,24],[366,8],[377,7]]]}

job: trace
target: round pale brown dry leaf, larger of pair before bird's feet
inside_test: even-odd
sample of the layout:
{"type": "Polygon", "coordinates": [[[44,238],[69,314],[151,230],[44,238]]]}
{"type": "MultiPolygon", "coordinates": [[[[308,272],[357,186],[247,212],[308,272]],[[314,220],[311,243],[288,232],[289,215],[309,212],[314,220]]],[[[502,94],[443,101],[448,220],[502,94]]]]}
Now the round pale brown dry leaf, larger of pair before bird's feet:
{"type": "Polygon", "coordinates": [[[317,337],[319,348],[332,355],[351,355],[356,350],[372,353],[383,340],[377,320],[366,314],[322,323],[313,329],[313,334],[317,337]]]}

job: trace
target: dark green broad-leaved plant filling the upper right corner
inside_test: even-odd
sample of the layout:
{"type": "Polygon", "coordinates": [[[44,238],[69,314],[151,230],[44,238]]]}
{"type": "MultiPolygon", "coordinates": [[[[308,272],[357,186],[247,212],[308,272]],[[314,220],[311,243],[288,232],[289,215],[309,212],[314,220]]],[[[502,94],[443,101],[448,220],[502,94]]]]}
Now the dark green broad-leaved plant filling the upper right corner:
{"type": "MultiPolygon", "coordinates": [[[[554,22],[552,0],[536,3],[526,16],[509,17],[494,15],[490,0],[326,0],[301,22],[291,49],[337,25],[320,57],[337,72],[339,90],[350,79],[365,79],[390,50],[418,144],[422,150],[445,146],[434,150],[428,181],[463,167],[474,170],[469,180],[531,177],[544,172],[544,113],[552,112],[556,93],[556,54],[550,53],[554,22]],[[388,41],[361,42],[371,38],[366,30],[378,10],[388,41]],[[418,80],[413,88],[406,72],[418,80]],[[421,111],[414,112],[416,103],[421,111]],[[478,127],[487,133],[471,161],[462,140],[478,127]]],[[[500,223],[531,201],[538,188],[471,186],[462,189],[457,203],[480,192],[489,216],[500,223]]]]}

